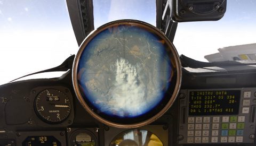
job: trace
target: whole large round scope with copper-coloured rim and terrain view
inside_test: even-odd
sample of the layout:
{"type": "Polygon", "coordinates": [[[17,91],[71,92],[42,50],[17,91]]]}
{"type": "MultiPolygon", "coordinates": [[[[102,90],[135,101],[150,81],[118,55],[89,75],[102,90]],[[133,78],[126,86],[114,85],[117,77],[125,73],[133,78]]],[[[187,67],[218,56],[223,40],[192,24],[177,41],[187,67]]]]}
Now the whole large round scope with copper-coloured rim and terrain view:
{"type": "Polygon", "coordinates": [[[116,127],[153,122],[180,88],[177,51],[165,35],[141,21],[119,20],[91,33],[79,48],[73,84],[85,109],[116,127]]]}

